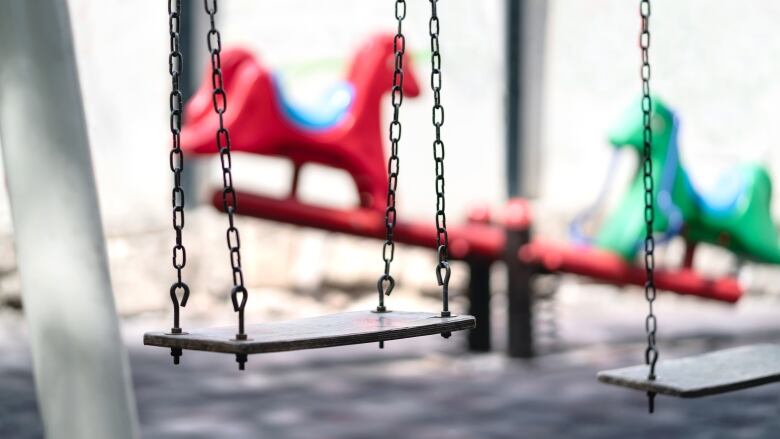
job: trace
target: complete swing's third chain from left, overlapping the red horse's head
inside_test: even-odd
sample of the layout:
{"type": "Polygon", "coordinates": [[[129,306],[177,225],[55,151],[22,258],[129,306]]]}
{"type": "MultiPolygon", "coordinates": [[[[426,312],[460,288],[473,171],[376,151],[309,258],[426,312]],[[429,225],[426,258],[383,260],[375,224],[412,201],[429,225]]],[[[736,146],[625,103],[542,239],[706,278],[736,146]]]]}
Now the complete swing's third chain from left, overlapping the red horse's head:
{"type": "Polygon", "coordinates": [[[403,21],[406,18],[406,0],[396,0],[395,18],[398,28],[393,38],[393,52],[395,65],[393,71],[393,88],[391,89],[391,103],[393,104],[393,121],[390,122],[390,158],[387,161],[387,207],[385,208],[386,239],[382,246],[382,260],[385,262],[384,273],[377,281],[379,293],[379,305],[377,312],[385,312],[385,297],[389,296],[395,287],[395,279],[390,274],[390,264],[395,257],[395,242],[393,241],[393,229],[396,224],[395,196],[398,187],[398,173],[401,161],[398,156],[398,144],[401,141],[401,104],[404,100],[404,54],[406,53],[406,37],[403,34],[403,21]]]}

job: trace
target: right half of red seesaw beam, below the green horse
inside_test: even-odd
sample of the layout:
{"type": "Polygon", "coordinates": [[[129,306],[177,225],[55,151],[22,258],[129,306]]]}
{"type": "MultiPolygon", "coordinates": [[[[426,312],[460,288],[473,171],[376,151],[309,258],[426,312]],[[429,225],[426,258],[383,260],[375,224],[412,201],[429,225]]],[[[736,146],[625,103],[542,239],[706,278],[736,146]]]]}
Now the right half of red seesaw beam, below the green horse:
{"type": "MultiPolygon", "coordinates": [[[[551,272],[579,274],[616,285],[645,284],[643,268],[626,264],[619,256],[595,248],[534,240],[521,248],[518,256],[523,263],[541,265],[551,272]]],[[[688,268],[656,269],[655,283],[659,290],[732,303],[743,293],[733,277],[705,278],[688,268]]]]}

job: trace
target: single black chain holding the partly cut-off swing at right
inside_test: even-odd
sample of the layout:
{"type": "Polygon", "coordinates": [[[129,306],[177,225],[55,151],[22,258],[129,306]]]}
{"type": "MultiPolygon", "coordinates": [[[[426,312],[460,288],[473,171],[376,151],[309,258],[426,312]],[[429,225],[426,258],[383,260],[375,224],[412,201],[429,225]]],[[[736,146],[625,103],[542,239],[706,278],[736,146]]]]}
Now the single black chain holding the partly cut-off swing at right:
{"type": "MultiPolygon", "coordinates": [[[[647,333],[647,349],[645,349],[645,363],[650,366],[647,378],[655,380],[655,365],[658,362],[658,348],[655,345],[655,334],[658,329],[658,321],[653,313],[653,302],[655,302],[655,240],[653,239],[653,222],[655,221],[654,197],[655,189],[653,184],[653,126],[652,126],[652,107],[653,101],[650,97],[650,0],[640,0],[639,14],[642,17],[642,30],[639,34],[639,47],[642,50],[642,68],[640,71],[642,77],[642,122],[643,129],[643,182],[645,198],[645,299],[647,299],[648,312],[645,318],[645,331],[647,333]]],[[[655,393],[648,392],[648,408],[653,413],[655,393]]]]}

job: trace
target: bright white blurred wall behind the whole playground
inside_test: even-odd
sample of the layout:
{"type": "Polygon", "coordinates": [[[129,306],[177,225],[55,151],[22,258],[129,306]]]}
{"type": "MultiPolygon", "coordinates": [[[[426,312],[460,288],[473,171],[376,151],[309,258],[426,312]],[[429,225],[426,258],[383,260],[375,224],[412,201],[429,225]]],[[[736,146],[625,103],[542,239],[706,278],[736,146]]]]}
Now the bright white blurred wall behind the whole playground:
{"type": "MultiPolygon", "coordinates": [[[[425,55],[428,2],[408,3],[408,44],[425,55]]],[[[609,158],[605,133],[640,91],[635,3],[550,1],[540,195],[563,218],[595,196],[609,158]]],[[[202,7],[185,0],[190,4],[202,7]]],[[[682,156],[696,181],[712,183],[741,160],[765,161],[780,176],[772,137],[778,120],[773,103],[780,98],[780,59],[772,56],[780,49],[774,23],[780,3],[653,5],[653,88],[680,111],[682,156]]],[[[165,4],[70,0],[70,7],[106,227],[111,233],[167,227],[165,4]]],[[[504,199],[502,14],[501,0],[448,0],[441,6],[453,218],[475,202],[498,205],[504,199]]],[[[343,65],[329,60],[348,57],[367,35],[394,24],[391,1],[230,0],[221,3],[219,16],[223,44],[261,53],[288,73],[295,94],[304,97],[339,76],[343,65]]],[[[427,63],[417,67],[427,84],[427,63]]],[[[430,94],[406,103],[400,209],[432,218],[430,94]]],[[[268,160],[251,160],[251,166],[239,160],[236,168],[239,185],[264,187],[278,186],[288,172],[268,160]]],[[[304,191],[326,192],[334,202],[351,199],[348,180],[329,171],[307,174],[304,191]]],[[[7,233],[7,204],[0,206],[0,230],[7,233]]]]}

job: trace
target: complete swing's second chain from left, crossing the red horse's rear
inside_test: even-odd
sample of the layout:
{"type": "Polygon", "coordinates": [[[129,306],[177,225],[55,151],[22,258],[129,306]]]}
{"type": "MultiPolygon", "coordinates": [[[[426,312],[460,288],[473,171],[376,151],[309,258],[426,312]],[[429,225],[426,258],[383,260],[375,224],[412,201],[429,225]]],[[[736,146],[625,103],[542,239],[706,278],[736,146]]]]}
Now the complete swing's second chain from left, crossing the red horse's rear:
{"type": "MultiPolygon", "coordinates": [[[[241,270],[241,239],[235,224],[237,206],[236,190],[233,188],[232,158],[230,155],[230,133],[225,128],[225,111],[227,110],[227,93],[223,88],[222,78],[222,39],[216,26],[217,0],[203,0],[203,6],[209,15],[210,29],[206,35],[206,42],[211,54],[211,85],[212,104],[214,112],[219,118],[219,128],[216,134],[216,145],[219,150],[219,160],[222,165],[222,208],[228,216],[228,228],[226,232],[227,246],[230,251],[230,266],[233,271],[233,289],[230,299],[233,309],[238,313],[238,333],[236,340],[247,340],[244,331],[244,310],[246,308],[249,293],[244,286],[244,273],[241,270]],[[239,295],[241,296],[239,298],[239,295]]],[[[239,367],[243,369],[243,362],[239,360],[239,367]]]]}

